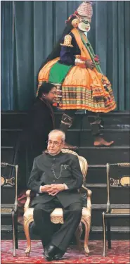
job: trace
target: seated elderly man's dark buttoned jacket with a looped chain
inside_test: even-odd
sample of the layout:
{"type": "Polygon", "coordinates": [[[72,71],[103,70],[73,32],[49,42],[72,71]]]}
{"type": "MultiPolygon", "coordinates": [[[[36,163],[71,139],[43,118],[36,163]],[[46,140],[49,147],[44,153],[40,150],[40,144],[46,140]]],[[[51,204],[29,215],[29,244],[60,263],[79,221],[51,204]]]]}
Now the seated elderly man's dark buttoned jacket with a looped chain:
{"type": "MultiPolygon", "coordinates": [[[[39,193],[41,185],[65,183],[68,190],[60,191],[56,196],[63,207],[66,207],[70,203],[81,201],[77,189],[82,187],[82,180],[82,171],[77,156],[62,152],[56,156],[43,153],[34,158],[28,187],[39,193]],[[56,177],[59,177],[59,179],[56,179],[56,177]]],[[[53,198],[53,196],[46,193],[39,194],[33,199],[32,206],[36,203],[46,203],[53,198]]]]}

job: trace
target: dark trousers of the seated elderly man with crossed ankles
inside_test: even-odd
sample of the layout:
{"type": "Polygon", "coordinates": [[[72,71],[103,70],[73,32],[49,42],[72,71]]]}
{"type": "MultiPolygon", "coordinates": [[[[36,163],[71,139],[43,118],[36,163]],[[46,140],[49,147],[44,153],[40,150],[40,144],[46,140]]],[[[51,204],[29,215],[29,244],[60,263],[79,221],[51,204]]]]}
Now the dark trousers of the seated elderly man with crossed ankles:
{"type": "Polygon", "coordinates": [[[37,203],[34,206],[34,226],[44,247],[51,243],[62,251],[66,251],[82,218],[82,203],[72,203],[63,208],[64,223],[54,233],[50,214],[59,207],[63,208],[56,197],[47,203],[37,203]]]}

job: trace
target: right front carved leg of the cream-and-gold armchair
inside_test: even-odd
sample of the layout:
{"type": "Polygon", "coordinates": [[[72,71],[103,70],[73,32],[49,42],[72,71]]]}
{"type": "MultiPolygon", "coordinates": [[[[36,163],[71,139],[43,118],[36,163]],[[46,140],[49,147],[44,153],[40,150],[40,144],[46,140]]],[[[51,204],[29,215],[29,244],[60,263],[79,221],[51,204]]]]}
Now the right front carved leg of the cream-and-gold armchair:
{"type": "Polygon", "coordinates": [[[84,251],[88,255],[89,254],[89,247],[88,247],[88,241],[89,241],[89,232],[91,227],[91,218],[82,218],[82,222],[85,225],[85,237],[84,237],[84,251]]]}

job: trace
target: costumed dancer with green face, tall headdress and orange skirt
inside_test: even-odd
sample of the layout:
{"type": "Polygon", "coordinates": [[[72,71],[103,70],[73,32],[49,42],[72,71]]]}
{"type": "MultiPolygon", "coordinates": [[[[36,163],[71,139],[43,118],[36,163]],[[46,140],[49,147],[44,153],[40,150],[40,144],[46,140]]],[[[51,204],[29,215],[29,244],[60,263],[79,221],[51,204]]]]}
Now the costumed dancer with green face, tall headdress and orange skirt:
{"type": "Polygon", "coordinates": [[[39,70],[39,87],[51,82],[58,91],[58,108],[63,109],[60,129],[67,132],[74,112],[84,109],[88,115],[94,146],[110,146],[103,139],[100,113],[116,108],[112,87],[100,69],[99,58],[87,37],[93,14],[91,1],[84,1],[66,21],[66,27],[56,47],[39,70]]]}

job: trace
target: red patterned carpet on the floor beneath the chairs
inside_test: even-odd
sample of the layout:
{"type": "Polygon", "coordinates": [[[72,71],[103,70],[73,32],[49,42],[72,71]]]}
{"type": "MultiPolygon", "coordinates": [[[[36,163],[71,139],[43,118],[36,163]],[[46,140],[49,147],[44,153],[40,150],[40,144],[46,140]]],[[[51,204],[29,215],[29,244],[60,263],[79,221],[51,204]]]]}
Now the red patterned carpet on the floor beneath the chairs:
{"type": "MultiPolygon", "coordinates": [[[[129,241],[112,241],[112,249],[107,249],[107,256],[102,256],[102,241],[89,241],[89,256],[84,251],[79,253],[76,246],[71,246],[62,260],[48,262],[44,259],[41,241],[32,240],[30,257],[25,256],[26,241],[20,240],[16,256],[12,256],[12,241],[1,241],[1,263],[130,263],[129,241]]],[[[84,249],[84,248],[83,248],[84,249]]]]}

